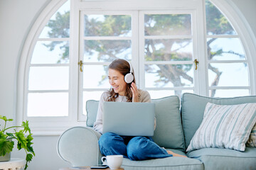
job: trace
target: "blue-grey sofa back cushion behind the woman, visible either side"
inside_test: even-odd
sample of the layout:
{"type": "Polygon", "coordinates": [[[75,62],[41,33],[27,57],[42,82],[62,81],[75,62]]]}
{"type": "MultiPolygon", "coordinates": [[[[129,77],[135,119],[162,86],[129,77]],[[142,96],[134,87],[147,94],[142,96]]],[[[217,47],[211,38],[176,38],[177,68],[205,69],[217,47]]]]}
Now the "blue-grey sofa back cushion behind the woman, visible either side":
{"type": "MultiPolygon", "coordinates": [[[[92,127],[97,116],[99,101],[90,100],[86,103],[87,126],[92,127]]],[[[180,101],[178,96],[153,99],[156,113],[156,130],[154,142],[160,147],[185,150],[181,125],[180,101]]]]}

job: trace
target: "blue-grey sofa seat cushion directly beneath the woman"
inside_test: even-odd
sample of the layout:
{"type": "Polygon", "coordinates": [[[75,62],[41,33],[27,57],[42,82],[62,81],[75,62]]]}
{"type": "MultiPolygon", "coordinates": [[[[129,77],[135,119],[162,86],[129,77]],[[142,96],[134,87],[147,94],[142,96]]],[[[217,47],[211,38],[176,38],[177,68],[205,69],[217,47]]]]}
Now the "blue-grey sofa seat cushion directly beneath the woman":
{"type": "MultiPolygon", "coordinates": [[[[176,154],[183,154],[183,152],[171,149],[176,154]]],[[[150,159],[145,161],[131,161],[124,158],[122,168],[125,170],[171,170],[171,169],[195,169],[203,170],[203,164],[198,159],[183,158],[183,157],[167,157],[162,159],[150,159]]]]}

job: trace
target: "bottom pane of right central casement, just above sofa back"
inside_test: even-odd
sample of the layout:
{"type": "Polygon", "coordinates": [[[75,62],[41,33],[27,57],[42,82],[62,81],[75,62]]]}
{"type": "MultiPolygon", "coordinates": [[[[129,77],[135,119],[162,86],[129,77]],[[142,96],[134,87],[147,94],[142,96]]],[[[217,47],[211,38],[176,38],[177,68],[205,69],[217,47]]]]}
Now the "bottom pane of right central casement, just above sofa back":
{"type": "Polygon", "coordinates": [[[181,100],[181,95],[184,93],[193,94],[193,90],[159,90],[159,91],[149,91],[151,99],[163,98],[167,96],[178,96],[181,100]]]}

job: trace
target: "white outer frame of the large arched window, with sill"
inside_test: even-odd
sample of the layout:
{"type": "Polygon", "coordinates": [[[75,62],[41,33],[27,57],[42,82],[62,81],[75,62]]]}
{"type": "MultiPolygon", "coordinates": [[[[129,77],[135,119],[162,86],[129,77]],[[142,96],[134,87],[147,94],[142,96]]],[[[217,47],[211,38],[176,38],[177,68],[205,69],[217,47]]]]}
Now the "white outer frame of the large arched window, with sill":
{"type": "MultiPolygon", "coordinates": [[[[28,69],[30,66],[30,60],[32,57],[33,47],[36,45],[36,42],[39,38],[41,31],[43,30],[46,23],[50,20],[50,17],[55,13],[55,11],[60,8],[65,3],[66,0],[53,0],[50,1],[48,6],[43,9],[41,14],[36,19],[35,23],[31,27],[29,31],[26,41],[23,45],[23,50],[21,52],[21,60],[18,66],[18,81],[17,81],[17,107],[16,107],[16,115],[18,123],[22,123],[23,120],[26,120],[27,117],[26,113],[26,104],[27,104],[27,87],[28,87],[28,69]]],[[[240,13],[239,9],[233,4],[232,1],[218,1],[218,0],[211,0],[215,6],[217,6],[220,11],[228,18],[230,24],[233,26],[235,31],[238,33],[238,36],[242,42],[242,46],[245,50],[245,55],[247,57],[247,64],[248,64],[248,72],[249,72],[249,79],[250,79],[250,95],[255,95],[256,91],[256,79],[255,79],[255,72],[256,67],[256,59],[252,57],[252,54],[256,54],[256,40],[250,26],[248,25],[245,18],[243,18],[242,13],[240,13]]],[[[154,1],[154,0],[141,0],[141,1],[80,1],[74,0],[70,4],[70,83],[69,83],[69,116],[68,118],[29,118],[29,123],[33,130],[34,135],[60,135],[61,132],[66,130],[67,128],[77,126],[77,125],[85,125],[84,118],[80,119],[80,113],[78,112],[80,108],[78,107],[78,95],[80,94],[78,84],[79,74],[78,74],[78,61],[80,53],[79,53],[79,38],[80,32],[79,28],[75,28],[75,26],[79,26],[80,23],[80,11],[99,11],[99,8],[102,11],[164,11],[164,10],[176,10],[184,9],[195,11],[196,15],[196,32],[198,33],[197,41],[198,41],[198,60],[200,61],[201,66],[198,69],[201,70],[208,70],[208,62],[206,56],[206,18],[205,18],[205,3],[204,0],[196,0],[196,1],[188,1],[188,0],[181,0],[181,1],[154,1]],[[100,2],[100,4],[99,4],[100,2]],[[134,5],[134,3],[137,5],[134,5]],[[145,6],[145,3],[147,6],[145,6]],[[113,6],[114,4],[114,6],[113,6]],[[106,7],[107,6],[107,7],[106,7]],[[188,7],[189,6],[189,7],[188,7]],[[200,34],[203,33],[203,34],[200,34]],[[202,66],[203,65],[203,66],[202,66]],[[73,114],[70,114],[73,113],[73,114]],[[82,120],[80,122],[79,120],[82,120]]],[[[138,14],[139,15],[139,14],[138,14]]],[[[137,21],[138,22],[138,21],[137,21]]],[[[139,26],[139,31],[142,31],[140,28],[142,24],[139,26]]],[[[144,25],[143,25],[144,26],[144,25]]],[[[192,30],[195,31],[195,30],[192,30]]],[[[134,34],[133,34],[134,35],[134,34]]],[[[144,34],[143,34],[144,35],[144,34]]],[[[142,36],[140,33],[139,36],[142,36]]],[[[137,35],[138,37],[138,35],[137,35]]],[[[141,39],[142,38],[138,38],[141,39]]],[[[139,44],[142,45],[139,40],[139,44]]],[[[142,46],[144,47],[144,46],[142,46]]],[[[193,50],[196,47],[196,44],[193,43],[193,50]]],[[[142,48],[144,49],[144,48],[142,48]]],[[[195,53],[195,51],[194,51],[195,53]]],[[[135,52],[137,56],[144,56],[144,51],[142,55],[142,50],[135,52]]],[[[132,55],[134,56],[134,54],[132,55]]],[[[195,56],[193,56],[195,57],[195,56]]],[[[196,57],[195,57],[196,58],[196,57]]],[[[144,87],[144,72],[138,72],[139,69],[144,68],[144,58],[143,57],[135,57],[132,58],[132,64],[134,70],[136,72],[135,77],[137,80],[139,79],[140,88],[144,87]]],[[[195,74],[196,77],[196,74],[195,74]]],[[[195,79],[194,77],[194,79],[195,79]]],[[[201,83],[197,84],[196,81],[194,82],[195,94],[199,94],[202,96],[208,96],[208,75],[206,72],[200,71],[198,73],[198,79],[201,79],[201,83]],[[203,79],[203,80],[202,80],[203,79]]],[[[80,105],[81,106],[81,105],[80,105]]]]}

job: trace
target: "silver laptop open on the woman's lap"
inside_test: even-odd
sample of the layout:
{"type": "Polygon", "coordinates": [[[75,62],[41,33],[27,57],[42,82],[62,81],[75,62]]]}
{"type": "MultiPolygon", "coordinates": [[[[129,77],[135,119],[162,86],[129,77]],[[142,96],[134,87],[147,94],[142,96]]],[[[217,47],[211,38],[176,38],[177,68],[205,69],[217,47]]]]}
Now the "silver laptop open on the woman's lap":
{"type": "Polygon", "coordinates": [[[154,135],[154,103],[111,102],[103,103],[102,132],[122,136],[154,135]]]}

